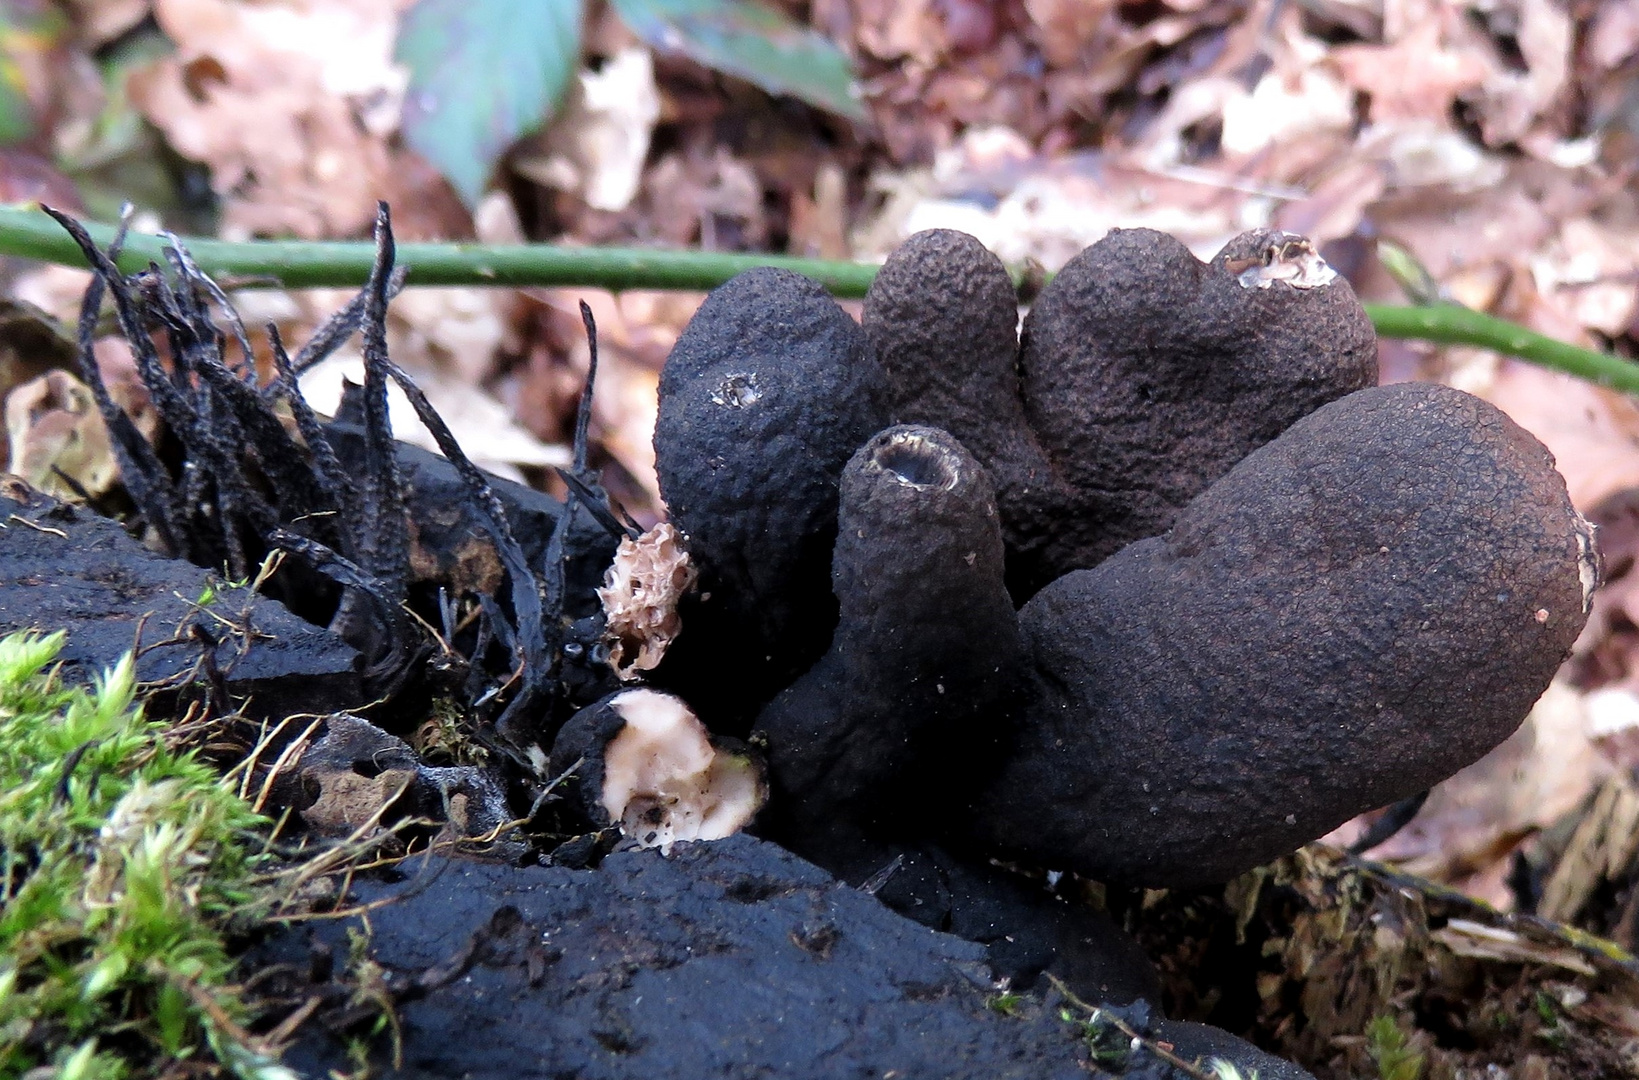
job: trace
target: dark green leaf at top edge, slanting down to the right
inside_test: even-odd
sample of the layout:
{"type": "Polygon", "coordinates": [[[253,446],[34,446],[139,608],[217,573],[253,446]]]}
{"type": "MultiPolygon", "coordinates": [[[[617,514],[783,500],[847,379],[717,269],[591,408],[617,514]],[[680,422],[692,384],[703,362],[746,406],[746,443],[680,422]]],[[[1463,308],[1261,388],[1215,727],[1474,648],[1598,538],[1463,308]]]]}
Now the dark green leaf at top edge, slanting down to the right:
{"type": "Polygon", "coordinates": [[[774,8],[752,0],[611,0],[634,34],[651,48],[756,84],[810,105],[864,120],[847,57],[774,8]]]}

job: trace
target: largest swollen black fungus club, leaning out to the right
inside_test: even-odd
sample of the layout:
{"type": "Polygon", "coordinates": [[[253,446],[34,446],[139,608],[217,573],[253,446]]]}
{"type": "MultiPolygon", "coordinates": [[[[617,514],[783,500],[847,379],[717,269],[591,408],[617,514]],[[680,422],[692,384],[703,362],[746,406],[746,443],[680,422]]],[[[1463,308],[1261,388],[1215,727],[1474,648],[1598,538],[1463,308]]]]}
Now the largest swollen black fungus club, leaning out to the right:
{"type": "Polygon", "coordinates": [[[1552,457],[1496,408],[1354,393],[1024,606],[1037,695],[977,828],[1100,880],[1228,880],[1508,737],[1582,629],[1591,559],[1552,457]]]}

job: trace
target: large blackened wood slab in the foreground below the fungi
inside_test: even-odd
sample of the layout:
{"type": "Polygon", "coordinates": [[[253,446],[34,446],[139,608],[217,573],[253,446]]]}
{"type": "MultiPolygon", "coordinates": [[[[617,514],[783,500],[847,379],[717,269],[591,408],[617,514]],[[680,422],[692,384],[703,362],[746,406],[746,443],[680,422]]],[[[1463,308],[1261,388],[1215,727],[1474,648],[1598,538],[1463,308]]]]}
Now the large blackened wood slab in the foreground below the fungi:
{"type": "MultiPolygon", "coordinates": [[[[369,914],[369,952],[402,993],[398,1075],[1088,1075],[1057,1010],[992,1006],[980,946],[747,836],[616,852],[597,872],[433,860],[421,875],[356,888],[400,896],[369,914]]],[[[359,929],[302,924],[247,964],[305,972],[315,944],[347,955],[359,929]]],[[[287,990],[300,1003],[313,987],[287,990]]],[[[347,1016],[336,996],[331,1019],[347,1016]]],[[[351,1067],[347,1034],[310,1024],[285,1064],[351,1067]]]]}

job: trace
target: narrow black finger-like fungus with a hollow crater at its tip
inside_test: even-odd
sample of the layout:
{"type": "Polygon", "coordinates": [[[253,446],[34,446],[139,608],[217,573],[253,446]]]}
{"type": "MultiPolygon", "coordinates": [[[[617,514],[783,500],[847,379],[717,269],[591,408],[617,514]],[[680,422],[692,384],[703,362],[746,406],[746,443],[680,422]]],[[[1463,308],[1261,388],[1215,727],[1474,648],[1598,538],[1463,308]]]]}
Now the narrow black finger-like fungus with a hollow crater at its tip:
{"type": "MultiPolygon", "coordinates": [[[[990,479],[938,428],[877,434],[842,474],[824,657],[759,716],[780,813],[898,816],[898,777],[960,783],[1021,670],[990,479]]],[[[939,801],[939,800],[936,800],[939,801]]],[[[929,828],[929,823],[923,823],[929,828]]]]}

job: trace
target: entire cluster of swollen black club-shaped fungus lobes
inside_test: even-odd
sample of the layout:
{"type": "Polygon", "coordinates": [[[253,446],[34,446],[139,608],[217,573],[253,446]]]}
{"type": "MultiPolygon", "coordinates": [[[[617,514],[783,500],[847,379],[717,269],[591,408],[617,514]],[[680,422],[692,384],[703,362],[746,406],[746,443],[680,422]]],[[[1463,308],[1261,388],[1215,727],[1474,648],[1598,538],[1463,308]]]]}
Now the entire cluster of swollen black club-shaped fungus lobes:
{"type": "MultiPolygon", "coordinates": [[[[888,261],[870,352],[826,344],[852,341],[828,303],[772,272],[713,293],[656,436],[703,580],[757,582],[713,603],[777,597],[793,662],[836,626],[759,718],[769,821],[828,865],[851,829],[923,831],[1105,880],[1226,880],[1485,754],[1582,626],[1595,557],[1552,459],[1460,392],[1364,388],[1370,323],[1301,238],[1249,233],[1201,264],[1111,233],[1044,290],[1016,354],[1006,274],[960,234],[888,261]],[[747,339],[765,362],[783,347],[779,370],[860,370],[793,377],[751,423],[721,400],[747,339]],[[905,429],[841,467],[870,387],[893,420],[956,431],[916,429],[918,461],[946,462],[926,475],[965,475],[962,439],[995,477],[1006,583],[1034,595],[1018,616],[983,487],[941,503],[956,488],[895,480],[905,429]],[[824,431],[824,454],[797,454],[793,429],[824,431]],[[811,600],[831,536],[841,621],[811,600]]],[[[679,644],[711,633],[685,615],[679,644]]]]}

